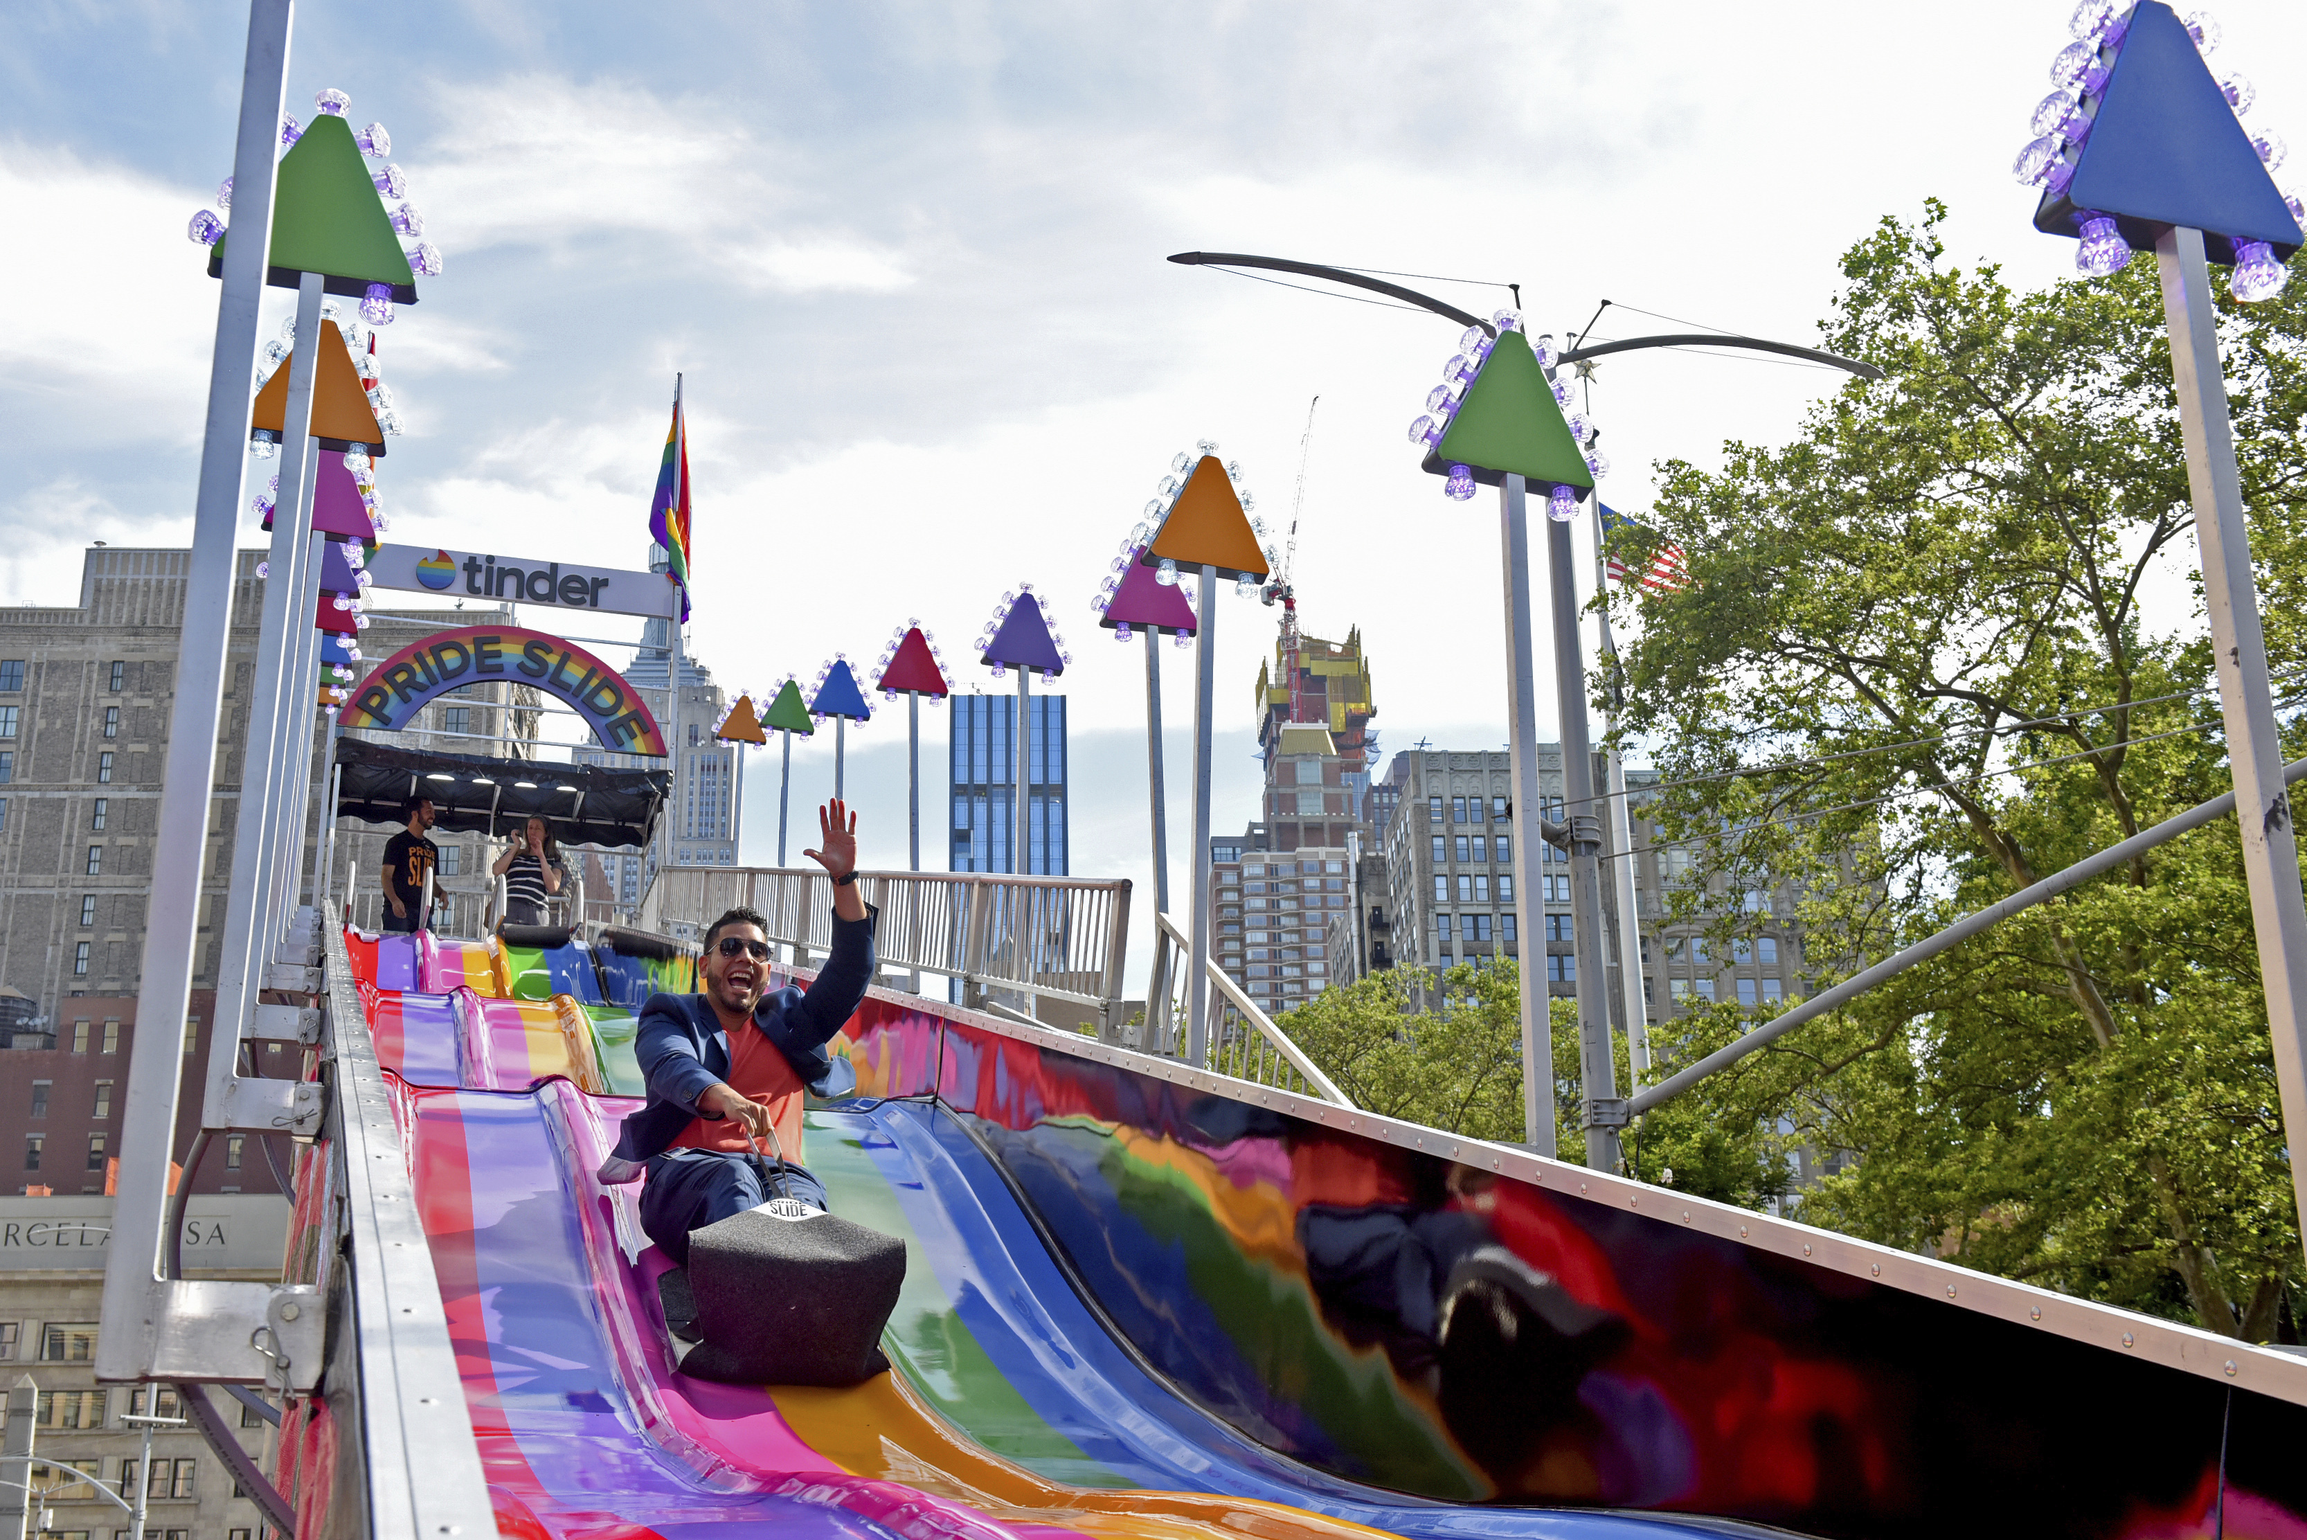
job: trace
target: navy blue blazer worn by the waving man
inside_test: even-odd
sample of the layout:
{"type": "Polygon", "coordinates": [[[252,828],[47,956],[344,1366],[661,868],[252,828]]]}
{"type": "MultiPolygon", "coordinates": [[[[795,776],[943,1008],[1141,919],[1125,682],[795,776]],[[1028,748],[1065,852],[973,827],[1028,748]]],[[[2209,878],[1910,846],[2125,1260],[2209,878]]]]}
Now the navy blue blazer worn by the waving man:
{"type": "MultiPolygon", "coordinates": [[[[872,984],[872,928],[877,910],[865,919],[833,917],[833,954],[807,988],[780,988],[761,995],[752,1025],[777,1044],[794,1074],[821,1097],[837,1097],[856,1085],[847,1060],[835,1064],[826,1044],[842,1030],[865,986],[872,984]],[[849,1071],[835,1083],[835,1069],[849,1071]]],[[[722,1032],[713,1002],[704,995],[651,995],[641,1007],[634,1034],[634,1057],[648,1078],[648,1106],[625,1117],[611,1159],[646,1161],[664,1154],[681,1131],[701,1113],[697,1097],[729,1078],[729,1034],[722,1032]]],[[[634,1173],[639,1175],[639,1173],[634,1173]]]]}

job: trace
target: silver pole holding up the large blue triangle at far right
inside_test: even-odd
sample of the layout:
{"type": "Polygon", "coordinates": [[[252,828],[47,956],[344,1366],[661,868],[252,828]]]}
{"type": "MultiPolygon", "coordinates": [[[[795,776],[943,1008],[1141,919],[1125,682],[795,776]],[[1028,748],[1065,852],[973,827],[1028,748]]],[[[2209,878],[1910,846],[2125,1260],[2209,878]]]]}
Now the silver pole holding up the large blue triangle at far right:
{"type": "MultiPolygon", "coordinates": [[[[2268,642],[2252,584],[2252,538],[2235,473],[2235,429],[2226,416],[2219,369],[2219,323],[2203,263],[2203,231],[2173,229],[2155,240],[2164,319],[2171,326],[2171,374],[2187,441],[2187,487],[2194,538],[2203,552],[2203,605],[2210,610],[2219,667],[2219,716],[2226,762],[2235,776],[2235,822],[2242,829],[2242,875],[2252,891],[2259,979],[2268,995],[2268,1037],[2284,1129],[2307,1138],[2307,903],[2300,900],[2300,852],[2275,732],[2268,642]]],[[[2307,1235],[2307,1187],[2291,1184],[2300,1233],[2307,1235]]]]}

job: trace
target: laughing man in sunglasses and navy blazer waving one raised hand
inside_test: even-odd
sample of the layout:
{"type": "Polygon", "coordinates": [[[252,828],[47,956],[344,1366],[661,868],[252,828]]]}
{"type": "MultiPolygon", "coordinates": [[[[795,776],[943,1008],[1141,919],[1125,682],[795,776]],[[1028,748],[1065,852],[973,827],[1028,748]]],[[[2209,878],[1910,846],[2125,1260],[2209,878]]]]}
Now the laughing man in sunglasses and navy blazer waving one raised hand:
{"type": "Polygon", "coordinates": [[[625,1117],[600,1178],[630,1182],[646,1168],[641,1228],[683,1268],[692,1231],[768,1198],[826,1208],[824,1184],[801,1164],[803,1090],[837,1097],[856,1083],[826,1044],[872,981],[874,917],[856,889],[856,815],[835,799],[817,824],[821,847],[803,854],[833,877],[833,954],[817,981],[768,993],[766,924],[729,910],[706,930],[704,993],[651,995],[641,1007],[634,1053],[648,1106],[625,1117]]]}

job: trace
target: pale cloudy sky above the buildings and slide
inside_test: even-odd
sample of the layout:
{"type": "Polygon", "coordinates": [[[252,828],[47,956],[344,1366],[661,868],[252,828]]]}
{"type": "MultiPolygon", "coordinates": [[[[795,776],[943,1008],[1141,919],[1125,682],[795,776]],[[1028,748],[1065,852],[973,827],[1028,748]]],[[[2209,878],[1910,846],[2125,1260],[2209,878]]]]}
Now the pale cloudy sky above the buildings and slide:
{"type": "MultiPolygon", "coordinates": [[[[1440,275],[1410,282],[1483,314],[1518,282],[1532,330],[1613,300],[1596,337],[1816,342],[1836,256],[1940,196],[1956,259],[2044,284],[2074,247],[2028,229],[2007,166],[2067,9],[307,0],[288,104],[341,88],[383,120],[448,261],[381,342],[408,423],[394,538],[639,566],[685,372],[694,653],[773,683],[872,658],[907,616],[960,653],[1034,582],[1075,651],[1073,866],[1144,877],[1142,665],[1089,593],[1195,439],[1241,459],[1262,515],[1299,506],[1306,628],[1361,628],[1389,753],[1504,741],[1495,499],[1444,501],[1403,436],[1456,328],[1165,254],[1440,275]]],[[[231,166],[247,23],[7,12],[0,603],[55,603],[92,538],[189,538],[217,293],[185,219],[231,166]]],[[[2252,120],[2307,134],[2307,9],[2219,16],[2252,120]]],[[[1640,510],[1659,459],[1781,441],[1836,379],[1606,362],[1603,494],[1640,510]]],[[[1255,808],[1273,621],[1220,603],[1220,831],[1255,808]]],[[[1188,679],[1170,670],[1174,723],[1188,679]]],[[[937,829],[941,713],[925,739],[937,829]]],[[[902,716],[856,737],[851,776],[867,859],[902,861],[902,716]]],[[[828,783],[831,743],[803,748],[796,806],[828,783]]],[[[747,790],[766,861],[775,760],[747,790]]]]}

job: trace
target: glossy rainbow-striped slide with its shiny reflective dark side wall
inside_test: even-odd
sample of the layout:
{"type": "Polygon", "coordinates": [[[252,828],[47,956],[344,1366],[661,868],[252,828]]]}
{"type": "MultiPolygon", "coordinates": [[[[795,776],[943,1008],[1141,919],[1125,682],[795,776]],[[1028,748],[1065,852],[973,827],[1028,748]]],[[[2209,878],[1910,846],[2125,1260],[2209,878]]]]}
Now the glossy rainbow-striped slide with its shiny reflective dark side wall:
{"type": "MultiPolygon", "coordinates": [[[[2210,1475],[2226,1533],[2307,1533],[2298,1408],[2238,1399],[2222,1427],[2217,1388],[2166,1376],[2152,1436],[2099,1448],[2099,1418],[2046,1431],[1963,1392],[1947,1311],[1908,1295],[1686,1231],[1661,1249],[1661,1221],[1488,1182],[1446,1136],[1387,1147],[884,993],[835,1044],[865,1094],[812,1108],[805,1159],[907,1244],[893,1369],[694,1381],[639,1184],[593,1175],[637,1106],[632,1016],[681,970],[348,942],[505,1535],[1938,1535],[1952,1494],[2012,1492],[2000,1531],[2146,1540],[2212,1533],[2210,1475]],[[1483,1268],[1525,1304],[1467,1291],[1483,1268]],[[1437,1298],[1504,1335],[1421,1318],[1437,1298]],[[2240,1450],[2224,1473],[2196,1422],[2240,1450]],[[2076,1480],[2026,1496],[2069,1448],[2076,1480]]],[[[2136,1404],[2092,1351],[2030,1341],[2111,1415],[2136,1404]]],[[[291,1492],[325,1489],[295,1471],[335,1448],[309,1406],[291,1492]]]]}

